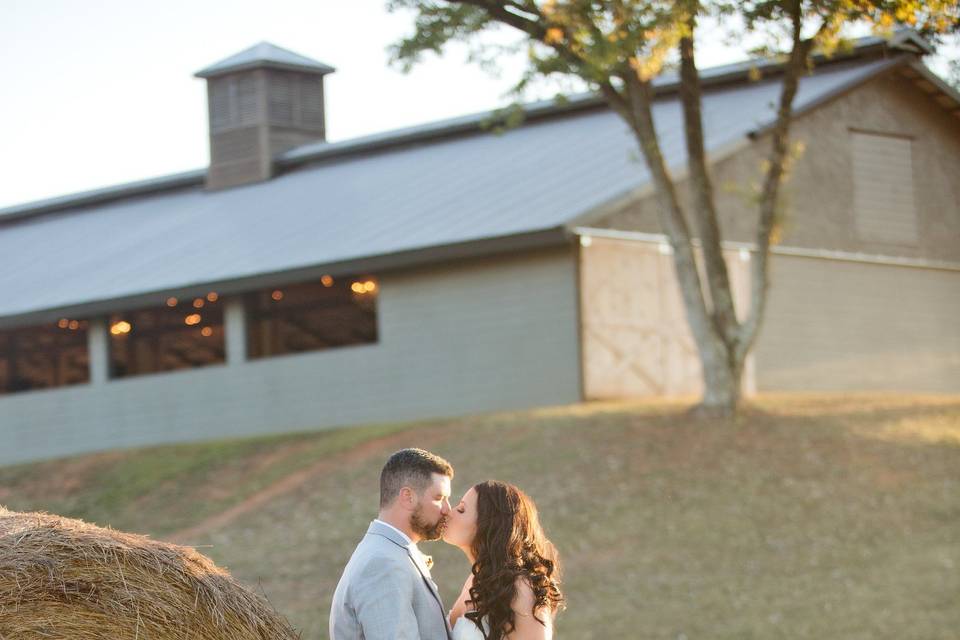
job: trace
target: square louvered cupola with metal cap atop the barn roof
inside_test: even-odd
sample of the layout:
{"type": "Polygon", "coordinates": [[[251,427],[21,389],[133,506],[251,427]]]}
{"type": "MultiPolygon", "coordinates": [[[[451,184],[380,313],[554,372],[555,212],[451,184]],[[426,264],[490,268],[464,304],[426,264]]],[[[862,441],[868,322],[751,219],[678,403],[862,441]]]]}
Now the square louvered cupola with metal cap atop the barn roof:
{"type": "Polygon", "coordinates": [[[322,62],[269,42],[194,75],[207,81],[207,189],[268,180],[273,158],[325,138],[322,62]]]}

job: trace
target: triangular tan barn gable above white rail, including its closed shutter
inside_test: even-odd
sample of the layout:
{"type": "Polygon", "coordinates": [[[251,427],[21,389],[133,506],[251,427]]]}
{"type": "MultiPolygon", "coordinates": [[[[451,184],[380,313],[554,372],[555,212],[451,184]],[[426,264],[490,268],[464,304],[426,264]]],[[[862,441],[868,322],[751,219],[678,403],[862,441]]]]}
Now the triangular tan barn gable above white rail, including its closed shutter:
{"type": "MultiPolygon", "coordinates": [[[[904,60],[801,110],[791,128],[802,152],[783,189],[781,245],[960,263],[960,96],[946,87],[931,93],[922,73],[904,60]],[[880,186],[888,193],[878,201],[880,186]]],[[[714,158],[728,240],[754,240],[751,198],[768,150],[760,133],[714,158]]],[[[685,182],[680,193],[689,203],[685,182]]],[[[660,232],[649,187],[578,222],[660,232]]]]}

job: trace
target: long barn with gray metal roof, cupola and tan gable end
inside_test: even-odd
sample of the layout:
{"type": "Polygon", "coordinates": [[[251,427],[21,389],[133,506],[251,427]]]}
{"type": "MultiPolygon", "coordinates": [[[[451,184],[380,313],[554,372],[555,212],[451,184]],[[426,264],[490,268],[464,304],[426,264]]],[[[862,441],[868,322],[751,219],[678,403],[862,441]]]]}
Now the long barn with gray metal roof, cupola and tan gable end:
{"type": "MultiPolygon", "coordinates": [[[[802,79],[748,392],[960,392],[960,95],[929,53],[863,38],[802,79]]],[[[210,166],[0,210],[0,463],[699,391],[646,167],[600,100],[330,143],[333,71],[255,45],[196,74],[210,166]]],[[[781,72],[702,70],[741,307],[781,72]]],[[[677,79],[656,91],[683,190],[677,79]]]]}

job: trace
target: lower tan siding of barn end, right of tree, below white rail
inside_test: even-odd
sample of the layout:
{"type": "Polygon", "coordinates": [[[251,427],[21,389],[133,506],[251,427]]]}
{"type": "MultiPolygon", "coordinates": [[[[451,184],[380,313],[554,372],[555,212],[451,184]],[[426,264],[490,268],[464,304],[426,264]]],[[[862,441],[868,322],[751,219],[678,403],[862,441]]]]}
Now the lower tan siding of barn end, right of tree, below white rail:
{"type": "Polygon", "coordinates": [[[960,393],[960,270],[774,256],[761,391],[960,393]]]}

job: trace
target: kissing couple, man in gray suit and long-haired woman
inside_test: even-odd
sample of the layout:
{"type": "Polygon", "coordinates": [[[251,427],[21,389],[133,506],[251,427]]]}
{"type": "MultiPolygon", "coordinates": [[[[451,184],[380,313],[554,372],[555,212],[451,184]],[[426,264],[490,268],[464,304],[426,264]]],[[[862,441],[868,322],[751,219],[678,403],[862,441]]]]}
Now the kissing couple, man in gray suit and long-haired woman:
{"type": "Polygon", "coordinates": [[[380,510],[343,570],[331,640],[550,640],[564,608],[557,551],[533,501],[488,480],[450,502],[453,467],[403,449],[380,472],[380,510]],[[469,573],[446,611],[418,543],[463,551],[469,573]]]}

